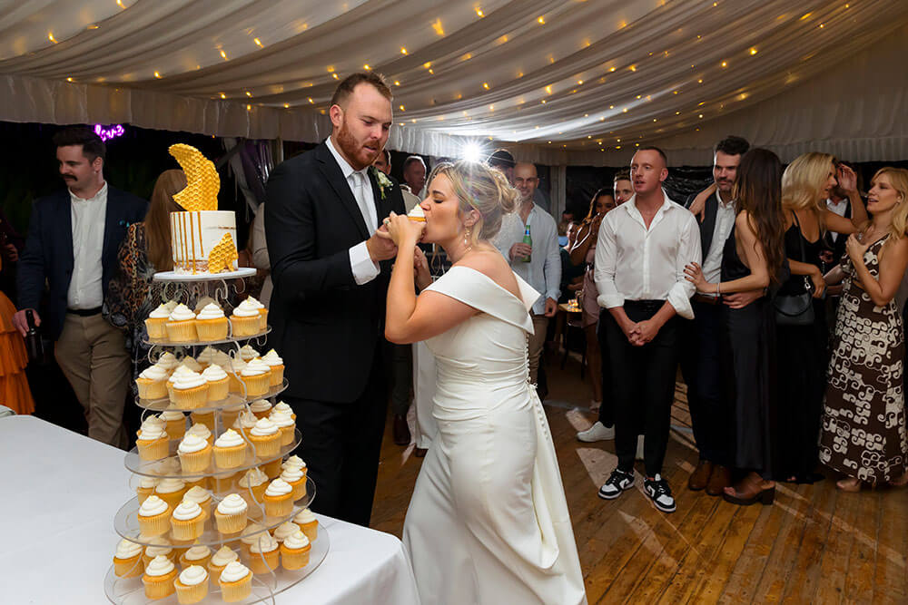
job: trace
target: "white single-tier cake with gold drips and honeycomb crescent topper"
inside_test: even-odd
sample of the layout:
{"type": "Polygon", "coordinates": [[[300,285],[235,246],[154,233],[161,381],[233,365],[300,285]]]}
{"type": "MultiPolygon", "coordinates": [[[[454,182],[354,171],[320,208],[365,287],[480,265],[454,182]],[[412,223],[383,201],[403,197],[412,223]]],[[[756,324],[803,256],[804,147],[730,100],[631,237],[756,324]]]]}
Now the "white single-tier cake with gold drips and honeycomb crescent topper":
{"type": "Polygon", "coordinates": [[[173,196],[184,212],[171,212],[171,252],[174,271],[221,273],[237,268],[236,214],[218,210],[221,179],[214,163],[183,143],[171,145],[171,155],[186,173],[186,188],[173,196]]]}

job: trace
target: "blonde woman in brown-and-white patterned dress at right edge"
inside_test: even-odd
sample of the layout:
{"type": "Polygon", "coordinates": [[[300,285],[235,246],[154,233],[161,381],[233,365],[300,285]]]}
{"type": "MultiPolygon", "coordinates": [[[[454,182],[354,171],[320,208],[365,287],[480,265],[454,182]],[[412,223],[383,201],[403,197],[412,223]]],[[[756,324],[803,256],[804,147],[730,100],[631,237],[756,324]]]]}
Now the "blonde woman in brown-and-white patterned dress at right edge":
{"type": "Polygon", "coordinates": [[[847,256],[826,274],[843,282],[829,362],[820,462],[847,475],[839,489],[861,483],[908,483],[903,393],[904,335],[895,303],[908,266],[908,171],[873,176],[867,210],[873,220],[848,238],[847,256]]]}

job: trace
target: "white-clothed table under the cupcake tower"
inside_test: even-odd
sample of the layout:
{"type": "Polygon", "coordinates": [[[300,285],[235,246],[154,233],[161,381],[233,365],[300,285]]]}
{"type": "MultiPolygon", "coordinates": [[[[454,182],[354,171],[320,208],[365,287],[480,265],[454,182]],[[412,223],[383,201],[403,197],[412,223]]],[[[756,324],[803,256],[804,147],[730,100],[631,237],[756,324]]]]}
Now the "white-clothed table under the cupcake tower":
{"type": "MultiPolygon", "coordinates": [[[[0,418],[4,603],[98,603],[133,497],[123,451],[33,416],[0,418]]],[[[316,515],[331,533],[321,566],[277,603],[419,603],[400,540],[316,515]]]]}

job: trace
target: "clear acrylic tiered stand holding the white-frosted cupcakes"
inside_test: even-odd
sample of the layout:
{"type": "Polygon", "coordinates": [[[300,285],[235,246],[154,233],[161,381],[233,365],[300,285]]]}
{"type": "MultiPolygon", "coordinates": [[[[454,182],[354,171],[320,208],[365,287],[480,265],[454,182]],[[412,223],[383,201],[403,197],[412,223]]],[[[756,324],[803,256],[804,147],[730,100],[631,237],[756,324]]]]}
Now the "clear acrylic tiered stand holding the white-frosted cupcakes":
{"type": "MultiPolygon", "coordinates": [[[[211,297],[215,302],[221,305],[225,310],[229,307],[229,299],[231,295],[239,295],[245,289],[245,284],[242,281],[242,278],[247,278],[255,274],[255,269],[253,268],[240,268],[237,271],[232,271],[230,273],[219,273],[219,274],[188,274],[188,273],[175,273],[173,271],[166,271],[162,273],[156,273],[153,278],[152,284],[152,296],[160,296],[162,300],[179,300],[187,304],[187,306],[194,307],[196,301],[202,297],[211,297]]],[[[249,337],[228,337],[225,340],[217,342],[192,342],[192,343],[167,343],[166,341],[154,342],[149,341],[148,344],[152,345],[152,348],[149,350],[149,359],[151,361],[155,360],[155,357],[158,354],[160,355],[162,349],[174,349],[178,354],[185,355],[188,351],[196,347],[201,346],[214,346],[221,345],[232,348],[233,355],[239,354],[240,343],[248,342],[250,340],[262,342],[264,337],[267,336],[268,332],[271,331],[271,327],[268,327],[265,331],[260,334],[252,335],[249,337]]],[[[237,408],[240,408],[240,412],[250,412],[249,404],[252,401],[257,399],[271,399],[276,395],[280,394],[284,389],[287,388],[287,381],[284,380],[281,385],[271,386],[271,389],[264,395],[255,395],[247,396],[245,388],[243,387],[243,393],[235,394],[231,393],[227,399],[224,399],[219,402],[211,402],[203,408],[197,408],[195,410],[179,410],[183,413],[197,412],[197,413],[208,413],[213,412],[214,414],[214,430],[212,434],[218,435],[221,431],[226,430],[227,427],[223,426],[222,423],[222,413],[225,410],[229,410],[232,413],[237,412],[237,408]]],[[[168,400],[143,400],[136,398],[136,405],[144,408],[143,416],[148,415],[153,411],[163,411],[164,409],[173,409],[170,407],[168,400]]],[[[273,402],[272,402],[273,403],[273,402]]],[[[226,490],[215,490],[213,485],[209,491],[212,493],[212,517],[208,518],[205,522],[205,530],[202,532],[202,535],[192,544],[173,544],[174,551],[183,550],[189,548],[195,543],[203,544],[209,546],[213,551],[217,551],[222,545],[227,545],[232,548],[233,551],[237,551],[240,556],[240,561],[245,564],[247,567],[250,566],[250,559],[254,556],[261,557],[260,562],[263,563],[264,568],[268,571],[266,573],[257,573],[253,575],[252,578],[252,592],[251,595],[242,601],[237,601],[240,603],[258,603],[258,602],[276,602],[275,596],[281,593],[284,590],[289,589],[291,586],[302,581],[306,576],[308,576],[312,571],[315,571],[321,561],[324,561],[325,556],[328,554],[328,551],[331,546],[331,538],[328,534],[328,531],[319,525],[318,527],[318,537],[316,540],[311,542],[311,551],[309,564],[306,565],[301,570],[286,570],[280,564],[276,569],[271,569],[267,561],[262,557],[262,555],[256,555],[249,551],[249,548],[244,544],[242,539],[246,539],[247,542],[254,541],[255,536],[263,536],[264,532],[268,532],[281,525],[283,522],[290,521],[296,514],[301,512],[302,509],[308,508],[313,499],[315,498],[315,483],[312,482],[310,478],[307,477],[306,480],[306,493],[300,499],[294,502],[291,514],[282,515],[280,517],[270,517],[265,514],[264,506],[259,502],[258,497],[255,493],[252,493],[252,490],[249,488],[242,488],[236,484],[237,478],[242,476],[247,470],[252,467],[262,466],[267,468],[267,464],[274,464],[278,460],[282,460],[284,456],[290,454],[301,442],[301,434],[299,430],[294,430],[293,440],[291,444],[282,445],[278,454],[271,456],[260,456],[257,455],[255,451],[255,446],[249,440],[248,435],[244,429],[241,429],[239,433],[242,435],[243,439],[247,443],[247,448],[249,454],[247,455],[246,460],[241,466],[238,466],[234,469],[221,469],[218,468],[212,461],[212,464],[203,472],[199,473],[183,473],[178,465],[178,458],[176,457],[175,448],[179,443],[178,439],[173,439],[169,448],[169,460],[171,461],[168,464],[168,459],[156,460],[156,461],[145,461],[142,460],[137,454],[136,450],[133,448],[131,452],[126,454],[125,465],[133,473],[133,477],[139,476],[153,476],[156,478],[178,478],[186,482],[199,481],[202,479],[208,479],[210,482],[217,480],[224,480],[225,477],[233,476],[233,484],[226,490]],[[239,493],[242,498],[248,504],[248,513],[249,513],[249,523],[246,529],[239,534],[225,535],[217,531],[213,519],[213,511],[217,507],[217,503],[226,496],[228,493],[239,493]],[[255,523],[252,525],[252,523],[255,523]]],[[[137,487],[140,483],[138,480],[132,482],[133,488],[137,487]]],[[[136,518],[136,512],[138,512],[139,501],[138,498],[133,498],[129,502],[123,504],[120,508],[120,511],[117,512],[116,517],[114,518],[114,529],[118,534],[123,536],[123,538],[130,540],[132,542],[139,543],[143,546],[154,545],[155,543],[160,544],[162,538],[169,538],[168,534],[157,537],[146,537],[139,532],[138,520],[136,518]]],[[[170,542],[168,540],[168,542],[170,542]]],[[[177,557],[174,556],[174,559],[177,557]]],[[[174,561],[176,564],[178,561],[174,561]]],[[[141,559],[136,563],[137,566],[141,566],[141,559]]],[[[177,566],[179,569],[179,566],[177,566]]],[[[138,571],[138,570],[136,570],[138,571]]],[[[131,574],[130,574],[131,575],[131,574]]],[[[205,599],[198,601],[203,605],[209,603],[222,603],[221,590],[217,583],[217,578],[209,576],[209,591],[208,596],[205,599]]],[[[177,603],[177,598],[175,594],[170,595],[165,599],[151,600],[145,596],[144,586],[142,582],[141,574],[133,578],[124,578],[119,577],[114,573],[114,566],[112,565],[107,571],[107,574],[104,578],[104,594],[107,596],[107,599],[117,605],[138,605],[146,603],[161,603],[162,605],[168,605],[170,603],[177,603]]]]}

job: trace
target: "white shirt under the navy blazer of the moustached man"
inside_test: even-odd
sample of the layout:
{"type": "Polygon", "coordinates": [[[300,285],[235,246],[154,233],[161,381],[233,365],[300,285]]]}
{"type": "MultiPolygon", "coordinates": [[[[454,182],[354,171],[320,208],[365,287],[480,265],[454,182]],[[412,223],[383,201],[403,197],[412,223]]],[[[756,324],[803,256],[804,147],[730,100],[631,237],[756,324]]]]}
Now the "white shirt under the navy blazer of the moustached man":
{"type": "Polygon", "coordinates": [[[107,218],[107,183],[94,197],[83,200],[69,192],[73,220],[73,277],[66,292],[66,307],[89,309],[104,303],[104,220],[107,218]]]}

